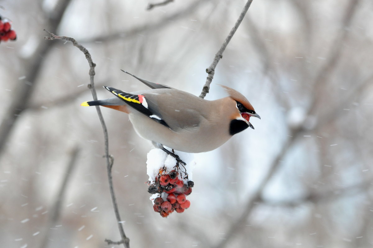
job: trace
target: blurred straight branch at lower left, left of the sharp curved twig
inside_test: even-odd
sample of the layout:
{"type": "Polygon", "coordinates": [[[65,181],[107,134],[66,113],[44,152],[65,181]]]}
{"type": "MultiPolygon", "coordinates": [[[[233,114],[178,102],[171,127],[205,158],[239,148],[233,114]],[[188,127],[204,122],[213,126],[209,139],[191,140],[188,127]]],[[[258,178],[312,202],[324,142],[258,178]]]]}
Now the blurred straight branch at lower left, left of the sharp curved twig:
{"type": "Polygon", "coordinates": [[[66,168],[65,176],[63,177],[60,189],[59,189],[58,194],[56,196],[56,200],[54,201],[54,206],[53,206],[52,211],[51,211],[51,217],[50,217],[49,223],[46,227],[46,233],[44,235],[43,241],[41,242],[40,248],[47,247],[48,241],[49,241],[48,238],[50,236],[50,230],[51,230],[52,227],[56,226],[56,222],[60,217],[61,206],[62,206],[64,197],[65,197],[66,188],[67,188],[70,176],[72,174],[72,170],[75,167],[76,158],[78,158],[79,152],[80,152],[79,147],[75,147],[72,150],[70,161],[69,161],[69,164],[66,168]]]}

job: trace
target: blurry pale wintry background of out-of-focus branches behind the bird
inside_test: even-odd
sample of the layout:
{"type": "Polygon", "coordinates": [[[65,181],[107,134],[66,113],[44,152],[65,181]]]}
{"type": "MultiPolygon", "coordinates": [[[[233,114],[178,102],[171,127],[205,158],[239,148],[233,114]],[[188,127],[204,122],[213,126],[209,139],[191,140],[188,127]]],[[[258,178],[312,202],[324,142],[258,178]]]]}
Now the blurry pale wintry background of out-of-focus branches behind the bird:
{"type": "MultiPolygon", "coordinates": [[[[0,1],[18,34],[0,44],[1,247],[120,239],[101,125],[94,108],[79,106],[92,99],[88,63],[71,43],[44,40],[43,29],[88,48],[98,98],[111,97],[102,85],[146,88],[120,69],[199,95],[245,1],[175,0],[147,11],[148,3],[0,1]]],[[[217,84],[227,85],[261,120],[195,155],[191,207],[168,219],[153,211],[144,183],[150,142],[126,114],[103,109],[131,247],[372,247],[372,26],[370,0],[254,0],[206,99],[224,97],[217,84]]]]}

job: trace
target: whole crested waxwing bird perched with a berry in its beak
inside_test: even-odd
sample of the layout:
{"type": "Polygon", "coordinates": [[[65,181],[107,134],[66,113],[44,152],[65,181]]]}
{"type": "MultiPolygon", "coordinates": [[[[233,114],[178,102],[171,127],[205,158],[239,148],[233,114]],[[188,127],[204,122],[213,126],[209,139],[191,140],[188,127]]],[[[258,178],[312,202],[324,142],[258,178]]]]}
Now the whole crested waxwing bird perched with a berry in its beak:
{"type": "Polygon", "coordinates": [[[221,85],[229,97],[208,101],[134,77],[151,90],[127,93],[104,86],[116,97],[86,101],[81,106],[99,105],[128,113],[137,134],[168,153],[163,145],[186,153],[214,150],[249,126],[254,129],[251,116],[260,119],[249,101],[229,87],[221,85]]]}

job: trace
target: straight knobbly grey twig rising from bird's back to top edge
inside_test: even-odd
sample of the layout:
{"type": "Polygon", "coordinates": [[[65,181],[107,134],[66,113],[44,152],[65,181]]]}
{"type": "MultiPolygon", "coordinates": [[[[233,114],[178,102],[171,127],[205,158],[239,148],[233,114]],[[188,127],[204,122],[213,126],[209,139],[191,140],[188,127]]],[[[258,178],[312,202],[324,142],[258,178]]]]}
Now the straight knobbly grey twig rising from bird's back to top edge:
{"type": "Polygon", "coordinates": [[[223,42],[223,45],[222,47],[220,47],[219,51],[217,51],[217,53],[215,54],[215,57],[214,57],[214,60],[213,62],[211,63],[211,65],[209,66],[209,68],[206,69],[206,72],[209,74],[207,75],[207,79],[206,79],[206,83],[205,85],[203,86],[203,90],[200,94],[200,97],[203,99],[206,97],[206,94],[209,93],[209,90],[210,90],[210,84],[212,82],[212,79],[214,78],[214,73],[215,73],[215,68],[216,68],[216,65],[217,63],[219,62],[219,60],[223,57],[223,51],[225,50],[225,48],[227,47],[229,41],[231,41],[233,35],[235,34],[238,26],[241,24],[242,20],[244,19],[245,15],[246,15],[246,12],[247,10],[249,9],[250,7],[250,4],[253,2],[253,0],[248,0],[245,4],[245,7],[244,9],[242,10],[241,14],[239,15],[235,25],[233,26],[231,32],[229,32],[227,38],[225,38],[225,41],[223,42]]]}

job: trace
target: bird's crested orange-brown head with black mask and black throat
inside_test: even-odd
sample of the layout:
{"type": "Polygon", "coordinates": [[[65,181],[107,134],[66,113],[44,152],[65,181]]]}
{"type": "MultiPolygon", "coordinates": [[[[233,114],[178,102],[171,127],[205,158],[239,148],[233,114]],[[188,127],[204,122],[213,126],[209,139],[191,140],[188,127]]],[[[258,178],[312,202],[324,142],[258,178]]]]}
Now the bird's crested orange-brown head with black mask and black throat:
{"type": "Polygon", "coordinates": [[[249,122],[250,117],[258,117],[260,119],[260,116],[255,112],[253,105],[236,90],[233,90],[232,88],[226,87],[224,85],[221,85],[225,91],[229,94],[229,97],[234,101],[236,110],[234,110],[234,113],[231,116],[231,123],[229,128],[229,133],[231,135],[237,134],[238,132],[241,132],[248,128],[254,129],[254,126],[251,125],[249,122]]]}

